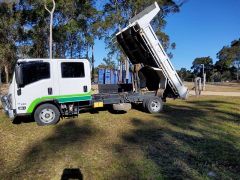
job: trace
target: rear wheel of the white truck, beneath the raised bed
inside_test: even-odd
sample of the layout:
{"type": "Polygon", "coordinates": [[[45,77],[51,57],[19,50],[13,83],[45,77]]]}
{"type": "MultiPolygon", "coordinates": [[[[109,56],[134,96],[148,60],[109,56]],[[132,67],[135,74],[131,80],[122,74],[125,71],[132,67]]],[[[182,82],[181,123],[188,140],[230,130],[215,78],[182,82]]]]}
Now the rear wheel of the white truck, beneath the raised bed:
{"type": "Polygon", "coordinates": [[[154,113],[159,113],[162,111],[163,108],[163,101],[159,97],[150,97],[146,103],[145,103],[145,108],[147,112],[154,114],[154,113]]]}

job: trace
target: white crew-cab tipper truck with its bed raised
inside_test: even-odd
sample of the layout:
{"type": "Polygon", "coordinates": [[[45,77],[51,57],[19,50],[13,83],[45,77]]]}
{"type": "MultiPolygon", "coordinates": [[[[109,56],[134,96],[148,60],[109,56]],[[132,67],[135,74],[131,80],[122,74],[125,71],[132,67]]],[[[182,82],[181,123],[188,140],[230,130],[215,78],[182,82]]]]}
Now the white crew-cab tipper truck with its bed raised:
{"type": "Polygon", "coordinates": [[[116,34],[134,65],[133,85],[107,85],[108,91],[93,94],[87,59],[20,59],[9,92],[1,98],[5,112],[11,119],[30,115],[38,125],[50,125],[83,108],[112,105],[127,111],[132,103],[142,103],[148,112],[158,113],[167,97],[186,99],[188,90],[150,25],[159,10],[154,3],[116,34]]]}

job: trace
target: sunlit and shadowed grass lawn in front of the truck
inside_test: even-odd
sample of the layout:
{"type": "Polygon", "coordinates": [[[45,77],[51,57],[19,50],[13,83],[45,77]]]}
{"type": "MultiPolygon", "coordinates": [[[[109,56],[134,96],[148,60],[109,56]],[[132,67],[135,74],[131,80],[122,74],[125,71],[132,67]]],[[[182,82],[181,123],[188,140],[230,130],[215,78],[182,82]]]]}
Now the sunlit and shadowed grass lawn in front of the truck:
{"type": "Polygon", "coordinates": [[[169,100],[157,115],[84,112],[55,126],[0,114],[0,179],[240,179],[240,98],[169,100]]]}

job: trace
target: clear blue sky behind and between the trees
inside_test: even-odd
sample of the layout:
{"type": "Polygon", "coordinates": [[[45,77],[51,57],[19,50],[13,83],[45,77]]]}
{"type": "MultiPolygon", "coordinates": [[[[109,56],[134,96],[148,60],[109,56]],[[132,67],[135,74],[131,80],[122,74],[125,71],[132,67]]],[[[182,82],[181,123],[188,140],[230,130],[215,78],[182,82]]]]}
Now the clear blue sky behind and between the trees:
{"type": "MultiPolygon", "coordinates": [[[[240,0],[188,0],[179,13],[169,14],[164,29],[176,43],[171,62],[176,69],[190,69],[197,57],[216,54],[223,46],[240,38],[240,0]]],[[[107,56],[103,40],[95,45],[96,65],[107,56]]]]}

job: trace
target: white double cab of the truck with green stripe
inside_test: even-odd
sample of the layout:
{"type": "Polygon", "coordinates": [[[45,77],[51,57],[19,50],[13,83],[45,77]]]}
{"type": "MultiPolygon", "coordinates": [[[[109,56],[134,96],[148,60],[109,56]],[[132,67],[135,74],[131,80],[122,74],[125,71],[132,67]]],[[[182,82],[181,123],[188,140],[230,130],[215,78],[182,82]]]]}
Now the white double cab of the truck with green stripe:
{"type": "Polygon", "coordinates": [[[11,118],[30,115],[46,102],[88,100],[91,75],[87,59],[19,59],[8,95],[2,97],[11,118]]]}

